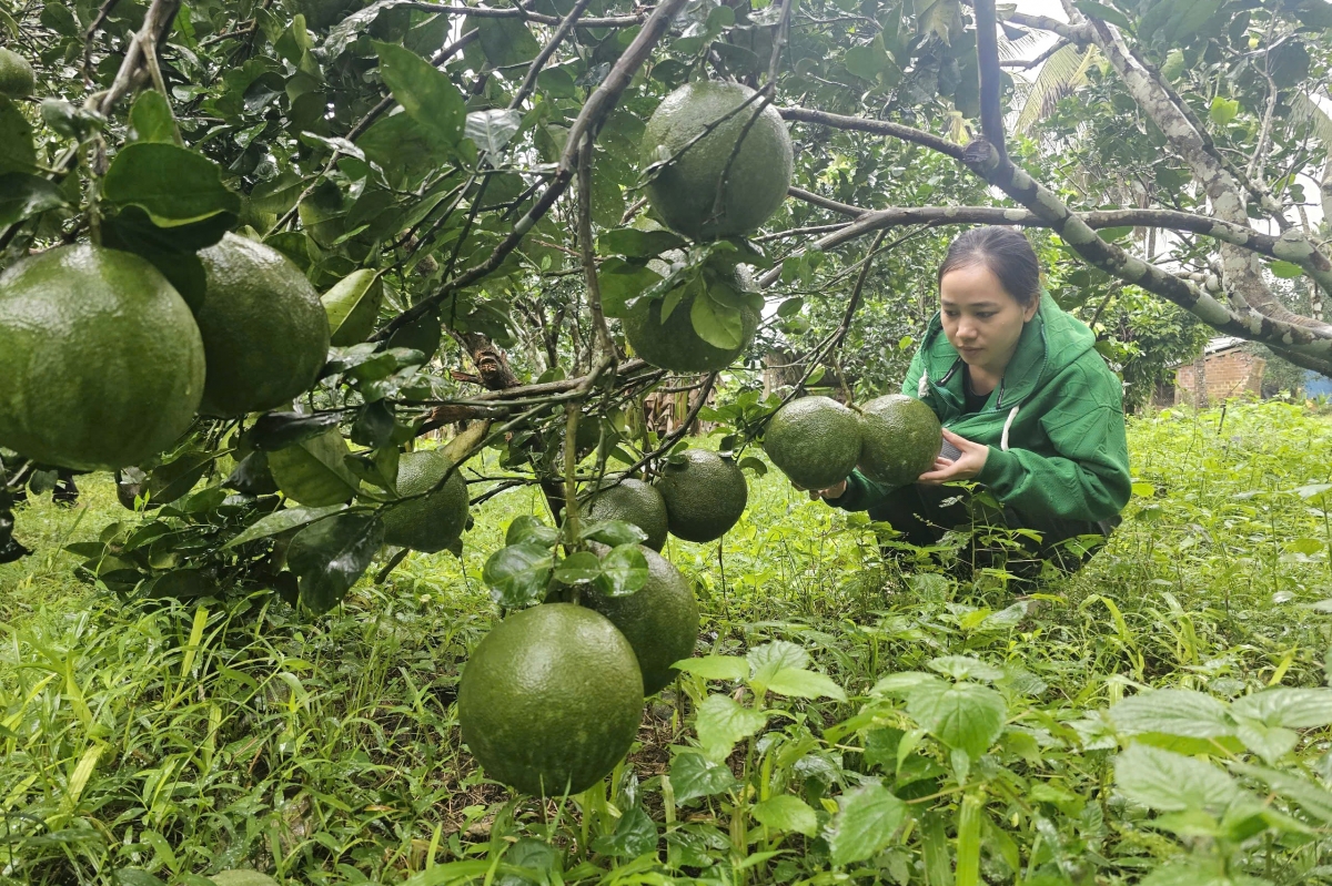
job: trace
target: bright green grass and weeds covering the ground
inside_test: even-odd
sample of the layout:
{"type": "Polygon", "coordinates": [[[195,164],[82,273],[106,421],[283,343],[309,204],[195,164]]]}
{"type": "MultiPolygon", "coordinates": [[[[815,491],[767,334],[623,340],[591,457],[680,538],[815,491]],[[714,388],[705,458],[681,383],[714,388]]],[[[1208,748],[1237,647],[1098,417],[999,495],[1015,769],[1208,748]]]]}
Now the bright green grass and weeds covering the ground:
{"type": "Polygon", "coordinates": [[[0,565],[0,882],[1332,883],[1332,690],[1291,728],[1244,713],[1325,682],[1332,423],[1264,403],[1130,440],[1124,525],[1027,600],[886,568],[863,519],[751,478],[721,545],[665,552],[698,655],[751,676],[682,677],[627,764],[565,801],[488,782],[453,705],[496,617],[481,567],[534,494],[488,502],[461,561],[413,555],[313,623],[268,595],[123,604],[60,552],[129,514],[111,484],[33,502],[35,555],[0,565]],[[835,685],[770,690],[774,660],[835,685]],[[701,744],[737,701],[759,725],[701,744]]]}

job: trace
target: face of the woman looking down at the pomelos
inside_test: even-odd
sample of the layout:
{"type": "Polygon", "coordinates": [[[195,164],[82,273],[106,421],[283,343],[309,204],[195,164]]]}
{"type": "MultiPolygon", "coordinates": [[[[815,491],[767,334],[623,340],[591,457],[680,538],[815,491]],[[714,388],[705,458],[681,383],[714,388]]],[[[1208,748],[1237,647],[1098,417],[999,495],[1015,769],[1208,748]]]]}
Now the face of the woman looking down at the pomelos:
{"type": "Polygon", "coordinates": [[[1023,325],[1036,314],[1038,299],[1018,303],[984,265],[955,267],[939,281],[943,334],[967,366],[1003,375],[1018,350],[1023,325]]]}

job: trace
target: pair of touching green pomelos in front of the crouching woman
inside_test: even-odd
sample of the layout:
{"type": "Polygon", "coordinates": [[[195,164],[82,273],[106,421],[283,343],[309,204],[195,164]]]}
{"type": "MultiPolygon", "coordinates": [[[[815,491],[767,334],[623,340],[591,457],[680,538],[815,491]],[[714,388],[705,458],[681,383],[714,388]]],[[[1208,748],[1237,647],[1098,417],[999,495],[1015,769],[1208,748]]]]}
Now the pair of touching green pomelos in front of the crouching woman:
{"type": "Polygon", "coordinates": [[[829,396],[802,396],[773,415],[763,451],[806,490],[836,486],[856,468],[876,483],[900,487],[934,467],[942,442],[934,410],[904,394],[856,408],[829,396]]]}

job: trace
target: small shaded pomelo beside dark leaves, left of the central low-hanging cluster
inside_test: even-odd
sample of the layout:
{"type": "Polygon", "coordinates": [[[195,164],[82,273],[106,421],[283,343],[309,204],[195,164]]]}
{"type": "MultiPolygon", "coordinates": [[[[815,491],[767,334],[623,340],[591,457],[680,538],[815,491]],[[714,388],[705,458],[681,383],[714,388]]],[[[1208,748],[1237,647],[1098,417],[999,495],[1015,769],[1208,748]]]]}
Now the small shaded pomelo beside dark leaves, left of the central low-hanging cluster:
{"type": "MultiPolygon", "coordinates": [[[[398,459],[398,495],[418,495],[433,488],[449,464],[440,450],[404,454],[398,459]]],[[[384,541],[434,553],[453,544],[466,524],[468,483],[461,472],[454,471],[430,495],[385,508],[384,541]]]]}

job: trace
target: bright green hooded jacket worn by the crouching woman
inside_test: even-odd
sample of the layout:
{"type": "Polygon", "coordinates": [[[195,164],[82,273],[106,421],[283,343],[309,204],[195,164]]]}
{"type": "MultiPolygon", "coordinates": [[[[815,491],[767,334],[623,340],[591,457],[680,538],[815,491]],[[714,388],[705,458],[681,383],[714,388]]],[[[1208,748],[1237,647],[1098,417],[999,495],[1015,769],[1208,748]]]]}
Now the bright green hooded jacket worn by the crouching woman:
{"type": "MultiPolygon", "coordinates": [[[[975,478],[1004,506],[1036,521],[1102,521],[1128,503],[1123,387],[1092,347],[1096,338],[1042,293],[1036,315],[979,412],[963,415],[962,358],[935,314],[902,392],[924,400],[958,436],[990,447],[975,478]]],[[[855,471],[829,504],[870,511],[892,487],[855,471]]]]}

